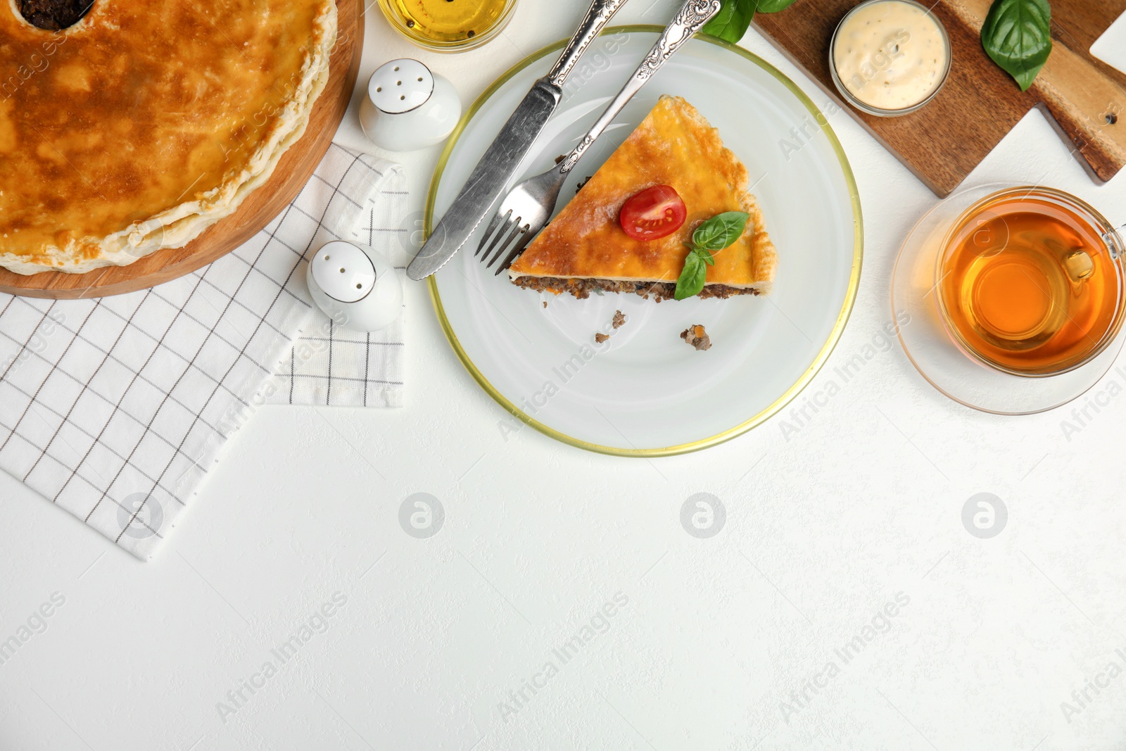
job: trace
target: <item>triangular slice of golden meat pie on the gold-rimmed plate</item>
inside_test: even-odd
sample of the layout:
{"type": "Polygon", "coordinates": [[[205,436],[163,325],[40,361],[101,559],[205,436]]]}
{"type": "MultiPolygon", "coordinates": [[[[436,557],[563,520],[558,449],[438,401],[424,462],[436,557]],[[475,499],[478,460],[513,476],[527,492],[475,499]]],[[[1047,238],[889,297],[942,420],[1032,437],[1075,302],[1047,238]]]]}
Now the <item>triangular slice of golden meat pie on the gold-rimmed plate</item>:
{"type": "Polygon", "coordinates": [[[586,298],[591,292],[672,299],[692,231],[724,212],[751,218],[735,243],[715,253],[700,297],[770,292],[777,252],[762,212],[747,190],[747,168],[720,132],[680,97],[653,111],[509,268],[517,286],[586,298]],[[659,240],[634,240],[618,223],[622,205],[654,185],[676,188],[688,209],[683,226],[659,240]]]}

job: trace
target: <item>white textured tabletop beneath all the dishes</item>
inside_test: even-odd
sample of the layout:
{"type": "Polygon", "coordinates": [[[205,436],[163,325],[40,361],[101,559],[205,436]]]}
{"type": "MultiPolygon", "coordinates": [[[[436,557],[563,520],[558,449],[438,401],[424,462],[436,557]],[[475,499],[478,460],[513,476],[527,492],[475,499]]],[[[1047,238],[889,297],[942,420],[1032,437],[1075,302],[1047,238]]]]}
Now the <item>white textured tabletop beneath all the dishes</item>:
{"type": "MultiPolygon", "coordinates": [[[[419,55],[373,9],[361,81],[421,56],[468,104],[586,5],[522,0],[461,56],[419,55]]],[[[866,252],[806,394],[876,355],[796,433],[784,414],[651,462],[506,441],[413,285],[408,408],[262,410],[152,563],[0,476],[0,642],[42,631],[0,664],[0,749],[1121,749],[1126,369],[1067,435],[1070,406],[1007,419],[932,391],[879,337],[899,242],[935,198],[831,123],[866,252]],[[445,509],[428,539],[400,526],[415,492],[445,509]],[[698,492],[726,509],[706,539],[680,522],[698,492]],[[963,526],[978,492],[1008,508],[991,539],[963,526]]],[[[350,120],[339,140],[372,150],[350,120]]],[[[400,158],[420,212],[436,159],[400,158]]],[[[1045,181],[1126,221],[1126,177],[1094,186],[1038,111],[971,179],[1045,181]]]]}

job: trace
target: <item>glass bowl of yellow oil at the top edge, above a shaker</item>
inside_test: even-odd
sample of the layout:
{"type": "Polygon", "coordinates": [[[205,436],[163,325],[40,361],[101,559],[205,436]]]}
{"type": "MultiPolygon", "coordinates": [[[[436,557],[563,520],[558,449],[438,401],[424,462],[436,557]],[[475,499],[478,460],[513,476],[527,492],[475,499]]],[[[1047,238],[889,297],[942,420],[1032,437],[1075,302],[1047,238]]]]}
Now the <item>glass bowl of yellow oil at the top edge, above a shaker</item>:
{"type": "Polygon", "coordinates": [[[431,52],[464,52],[494,39],[517,0],[378,0],[387,23],[431,52]]]}

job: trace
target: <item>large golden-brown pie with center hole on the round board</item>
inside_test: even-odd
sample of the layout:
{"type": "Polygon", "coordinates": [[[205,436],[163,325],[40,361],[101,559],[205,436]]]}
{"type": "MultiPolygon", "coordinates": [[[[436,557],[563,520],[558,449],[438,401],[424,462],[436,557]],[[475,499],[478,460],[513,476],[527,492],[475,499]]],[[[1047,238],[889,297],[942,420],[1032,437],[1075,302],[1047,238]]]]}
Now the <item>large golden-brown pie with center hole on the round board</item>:
{"type": "Polygon", "coordinates": [[[92,0],[61,30],[20,12],[50,26],[50,2],[0,1],[0,266],[19,274],[186,245],[270,177],[329,79],[333,0],[92,0]]]}

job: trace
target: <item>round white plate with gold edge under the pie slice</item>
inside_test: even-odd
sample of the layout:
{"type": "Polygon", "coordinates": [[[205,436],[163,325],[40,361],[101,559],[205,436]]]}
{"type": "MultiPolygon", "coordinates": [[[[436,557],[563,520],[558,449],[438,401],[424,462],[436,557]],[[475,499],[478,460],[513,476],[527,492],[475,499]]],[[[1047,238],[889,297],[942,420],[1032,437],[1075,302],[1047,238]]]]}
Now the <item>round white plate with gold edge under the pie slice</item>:
{"type": "MultiPolygon", "coordinates": [[[[513,185],[574,147],[660,30],[618,27],[592,45],[513,185]]],[[[466,114],[435,175],[428,231],[561,47],[517,65],[466,114]]],[[[554,438],[609,454],[704,448],[777,412],[828,358],[860,277],[856,184],[824,116],[775,68],[712,39],[685,45],[634,98],[575,169],[561,207],[662,93],[688,99],[747,164],[778,248],[771,295],[660,304],[613,293],[540,295],[512,286],[507,274],[493,276],[465,250],[430,279],[450,343],[493,399],[554,438]],[[627,323],[597,345],[595,333],[610,330],[616,310],[627,323]],[[711,350],[680,339],[695,323],[707,328],[711,350]]],[[[473,238],[467,248],[476,245],[473,238]]]]}

